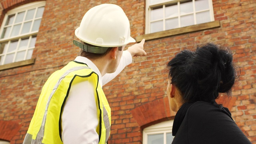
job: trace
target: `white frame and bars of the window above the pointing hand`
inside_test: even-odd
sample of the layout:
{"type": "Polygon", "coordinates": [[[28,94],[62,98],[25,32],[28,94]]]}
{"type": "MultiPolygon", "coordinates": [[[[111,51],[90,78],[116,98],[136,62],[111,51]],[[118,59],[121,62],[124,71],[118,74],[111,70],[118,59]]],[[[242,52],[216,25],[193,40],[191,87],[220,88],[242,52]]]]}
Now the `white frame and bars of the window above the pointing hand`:
{"type": "MultiPolygon", "coordinates": [[[[163,6],[163,31],[165,31],[165,20],[166,19],[169,19],[169,18],[164,18],[164,12],[165,12],[165,5],[167,4],[176,4],[178,3],[178,22],[179,22],[179,27],[178,28],[181,28],[181,24],[180,24],[180,2],[183,2],[183,1],[186,1],[186,0],[163,0],[163,2],[157,2],[157,3],[154,3],[154,4],[150,4],[150,0],[146,0],[146,26],[145,26],[145,34],[150,34],[150,11],[152,8],[156,8],[156,7],[159,7],[159,6],[163,6]]],[[[194,25],[196,25],[196,13],[198,12],[204,12],[206,10],[209,10],[210,11],[210,22],[214,21],[214,11],[213,11],[213,5],[212,5],[212,0],[208,0],[208,4],[209,4],[209,9],[206,9],[206,10],[200,10],[200,11],[197,11],[195,12],[195,0],[192,0],[193,1],[193,9],[194,11],[191,12],[191,13],[188,13],[188,14],[185,14],[185,15],[189,15],[189,14],[194,14],[194,25]]],[[[184,15],[182,15],[184,16],[184,15]]]]}

